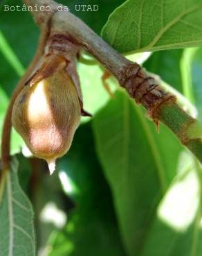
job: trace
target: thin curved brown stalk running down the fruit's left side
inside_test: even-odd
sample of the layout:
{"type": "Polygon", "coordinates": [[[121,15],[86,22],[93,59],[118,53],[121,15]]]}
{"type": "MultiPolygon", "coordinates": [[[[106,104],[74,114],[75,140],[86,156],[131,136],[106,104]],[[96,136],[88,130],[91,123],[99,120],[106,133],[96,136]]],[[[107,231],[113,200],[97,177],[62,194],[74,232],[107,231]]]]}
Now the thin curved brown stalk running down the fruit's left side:
{"type": "Polygon", "coordinates": [[[31,75],[31,73],[33,72],[33,68],[35,68],[37,62],[39,61],[40,57],[42,57],[44,53],[44,46],[46,44],[47,35],[48,35],[48,29],[44,28],[44,30],[42,30],[42,33],[39,37],[39,46],[37,48],[35,57],[33,58],[33,61],[31,62],[30,66],[28,66],[26,73],[24,73],[23,77],[21,77],[21,80],[15,87],[15,90],[13,91],[12,97],[10,99],[10,104],[8,106],[6,117],[3,122],[3,132],[2,132],[2,138],[1,138],[1,161],[2,161],[3,170],[9,169],[10,134],[11,134],[11,128],[12,128],[12,122],[11,122],[12,107],[15,102],[15,99],[17,98],[17,95],[20,93],[21,89],[23,88],[24,83],[26,82],[26,79],[31,75]]]}

